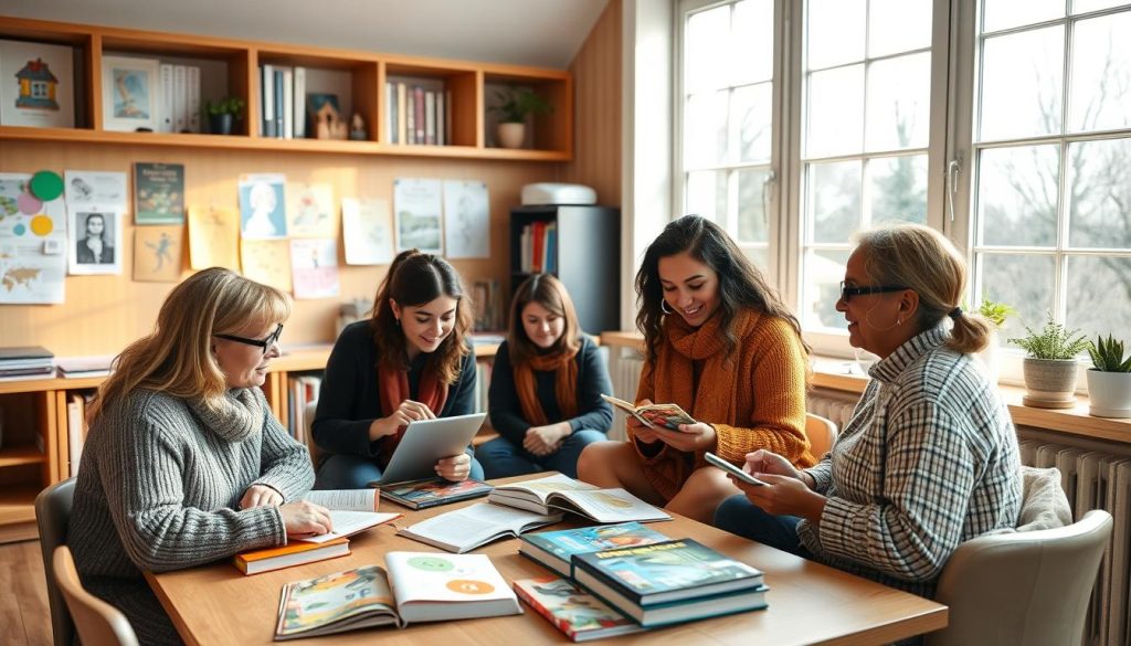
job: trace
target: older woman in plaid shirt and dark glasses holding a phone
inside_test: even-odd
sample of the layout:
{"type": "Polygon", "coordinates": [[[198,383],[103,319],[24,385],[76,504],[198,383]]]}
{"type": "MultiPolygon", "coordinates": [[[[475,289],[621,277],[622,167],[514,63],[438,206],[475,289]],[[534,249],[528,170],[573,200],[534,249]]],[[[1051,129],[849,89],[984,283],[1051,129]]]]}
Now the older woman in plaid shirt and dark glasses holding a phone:
{"type": "Polygon", "coordinates": [[[746,456],[763,485],[719,506],[715,524],[795,554],[931,596],[959,543],[1012,527],[1021,502],[1009,412],[970,356],[990,322],[964,312],[966,261],[941,233],[865,232],[837,310],[848,342],[880,358],[832,450],[794,468],[746,456]]]}

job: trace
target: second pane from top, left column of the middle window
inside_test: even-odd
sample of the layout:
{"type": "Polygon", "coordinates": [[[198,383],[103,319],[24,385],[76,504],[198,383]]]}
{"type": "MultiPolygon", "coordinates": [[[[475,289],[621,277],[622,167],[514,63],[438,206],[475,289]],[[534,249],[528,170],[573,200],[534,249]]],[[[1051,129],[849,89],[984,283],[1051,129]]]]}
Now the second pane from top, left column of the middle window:
{"type": "Polygon", "coordinates": [[[809,76],[809,157],[860,153],[864,139],[864,66],[809,76]]]}

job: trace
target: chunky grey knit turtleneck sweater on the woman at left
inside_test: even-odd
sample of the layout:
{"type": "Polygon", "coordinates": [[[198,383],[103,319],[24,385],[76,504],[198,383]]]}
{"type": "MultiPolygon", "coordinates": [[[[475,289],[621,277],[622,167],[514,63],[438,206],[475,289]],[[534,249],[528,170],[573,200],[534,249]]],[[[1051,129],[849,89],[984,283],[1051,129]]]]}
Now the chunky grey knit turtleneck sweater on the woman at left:
{"type": "Polygon", "coordinates": [[[285,544],[278,509],[241,511],[240,499],[266,484],[291,502],[313,481],[307,448],[258,388],[230,390],[218,411],[138,389],[90,427],[67,542],[83,585],[124,612],[143,644],[179,643],[141,570],[285,544]]]}

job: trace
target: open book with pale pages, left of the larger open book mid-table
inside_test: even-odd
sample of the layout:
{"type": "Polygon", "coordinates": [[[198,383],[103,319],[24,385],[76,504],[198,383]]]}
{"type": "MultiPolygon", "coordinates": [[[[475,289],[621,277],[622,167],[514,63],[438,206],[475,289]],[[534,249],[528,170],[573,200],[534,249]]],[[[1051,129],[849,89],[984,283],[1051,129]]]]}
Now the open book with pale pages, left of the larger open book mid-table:
{"type": "Polygon", "coordinates": [[[497,539],[518,536],[562,519],[562,514],[536,514],[511,507],[477,502],[433,516],[397,531],[397,534],[449,552],[464,553],[497,539]]]}

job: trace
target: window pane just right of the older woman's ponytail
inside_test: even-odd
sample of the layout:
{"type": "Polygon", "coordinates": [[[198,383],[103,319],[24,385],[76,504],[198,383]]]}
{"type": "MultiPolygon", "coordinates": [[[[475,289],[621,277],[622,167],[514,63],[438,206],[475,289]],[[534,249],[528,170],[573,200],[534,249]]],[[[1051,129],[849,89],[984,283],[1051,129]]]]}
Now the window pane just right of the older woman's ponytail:
{"type": "Polygon", "coordinates": [[[1044,325],[1045,312],[1053,309],[1056,265],[1052,255],[982,253],[979,265],[981,291],[1017,310],[1003,336],[1018,337],[1025,334],[1025,326],[1044,325]]]}

